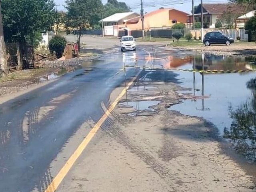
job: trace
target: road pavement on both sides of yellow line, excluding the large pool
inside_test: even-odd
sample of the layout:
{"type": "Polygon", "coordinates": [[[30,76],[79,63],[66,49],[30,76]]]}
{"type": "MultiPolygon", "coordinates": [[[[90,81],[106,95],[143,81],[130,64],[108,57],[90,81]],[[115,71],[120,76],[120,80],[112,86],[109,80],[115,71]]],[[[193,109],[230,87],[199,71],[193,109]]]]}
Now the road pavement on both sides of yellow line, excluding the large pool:
{"type": "Polygon", "coordinates": [[[124,63],[137,58],[142,66],[150,52],[152,46],[140,45],[136,52],[106,54],[0,104],[0,191],[45,192],[61,178],[48,191],[255,192],[255,164],[219,140],[214,126],[166,110],[181,99],[175,73],[143,71],[135,85],[150,73],[150,81],[143,78],[150,89],[128,91],[107,113],[138,74],[130,68],[124,81],[124,63]],[[158,104],[150,111],[125,104],[141,100],[158,104]],[[74,165],[59,174],[106,113],[74,165]]]}

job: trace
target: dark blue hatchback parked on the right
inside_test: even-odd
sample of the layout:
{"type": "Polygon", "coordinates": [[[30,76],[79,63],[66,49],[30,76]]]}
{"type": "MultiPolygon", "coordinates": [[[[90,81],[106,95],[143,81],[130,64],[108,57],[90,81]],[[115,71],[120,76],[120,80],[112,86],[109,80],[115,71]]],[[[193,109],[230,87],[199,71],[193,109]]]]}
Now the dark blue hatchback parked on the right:
{"type": "Polygon", "coordinates": [[[205,44],[205,46],[210,46],[211,44],[230,45],[234,43],[234,39],[220,32],[208,32],[204,36],[203,43],[205,44]]]}

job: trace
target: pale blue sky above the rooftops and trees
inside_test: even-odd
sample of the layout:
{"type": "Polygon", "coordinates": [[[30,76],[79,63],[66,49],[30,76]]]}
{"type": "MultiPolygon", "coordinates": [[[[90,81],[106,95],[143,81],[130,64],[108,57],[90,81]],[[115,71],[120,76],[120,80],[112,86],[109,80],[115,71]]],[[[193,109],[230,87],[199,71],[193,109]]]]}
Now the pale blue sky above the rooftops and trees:
{"type": "MultiPolygon", "coordinates": [[[[58,10],[64,10],[63,5],[65,0],[54,0],[57,5],[58,10]]],[[[140,12],[140,0],[118,0],[119,2],[125,2],[128,6],[132,8],[134,12],[140,12]]],[[[102,0],[103,4],[106,4],[107,0],[102,0]]],[[[228,0],[203,0],[204,3],[227,3],[228,0]]],[[[192,10],[192,0],[143,0],[144,11],[150,12],[156,10],[160,7],[164,8],[175,8],[177,10],[191,13],[192,10]]],[[[194,0],[194,5],[200,4],[200,0],[194,0]]]]}

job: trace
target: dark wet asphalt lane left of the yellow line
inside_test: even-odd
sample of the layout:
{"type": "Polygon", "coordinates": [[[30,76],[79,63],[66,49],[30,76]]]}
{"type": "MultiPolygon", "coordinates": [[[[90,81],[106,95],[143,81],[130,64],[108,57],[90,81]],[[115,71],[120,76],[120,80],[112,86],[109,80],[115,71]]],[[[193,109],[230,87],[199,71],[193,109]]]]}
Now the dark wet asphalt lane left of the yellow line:
{"type": "MultiPolygon", "coordinates": [[[[148,52],[139,48],[106,55],[1,104],[0,192],[43,191],[39,186],[52,179],[48,171],[52,160],[83,122],[101,118],[102,102],[109,106],[110,93],[124,83],[123,62],[134,64],[137,57],[143,65],[147,56],[148,52]],[[63,99],[53,102],[54,98],[63,99]]],[[[126,76],[134,76],[134,69],[127,70],[126,76]]]]}

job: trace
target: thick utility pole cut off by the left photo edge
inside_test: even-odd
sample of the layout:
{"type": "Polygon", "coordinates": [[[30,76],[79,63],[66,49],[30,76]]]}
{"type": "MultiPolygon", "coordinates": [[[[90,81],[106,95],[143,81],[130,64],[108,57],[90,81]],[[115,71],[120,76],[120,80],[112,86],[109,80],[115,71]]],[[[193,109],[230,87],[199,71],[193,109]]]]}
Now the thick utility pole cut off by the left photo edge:
{"type": "Polygon", "coordinates": [[[6,60],[6,48],[4,42],[4,29],[3,29],[3,20],[2,20],[2,8],[0,1],[0,69],[8,72],[8,65],[6,60]]]}

